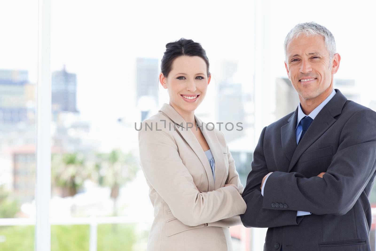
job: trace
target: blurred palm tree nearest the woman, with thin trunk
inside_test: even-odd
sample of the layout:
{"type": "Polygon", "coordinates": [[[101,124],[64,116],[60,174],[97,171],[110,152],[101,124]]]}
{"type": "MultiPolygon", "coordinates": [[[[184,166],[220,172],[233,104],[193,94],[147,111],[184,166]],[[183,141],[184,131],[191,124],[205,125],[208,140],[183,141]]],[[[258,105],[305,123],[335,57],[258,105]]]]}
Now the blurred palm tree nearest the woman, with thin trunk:
{"type": "Polygon", "coordinates": [[[98,184],[111,188],[110,196],[114,202],[113,214],[116,216],[120,187],[132,180],[138,169],[135,157],[119,149],[114,149],[108,154],[97,154],[95,169],[98,184]]]}

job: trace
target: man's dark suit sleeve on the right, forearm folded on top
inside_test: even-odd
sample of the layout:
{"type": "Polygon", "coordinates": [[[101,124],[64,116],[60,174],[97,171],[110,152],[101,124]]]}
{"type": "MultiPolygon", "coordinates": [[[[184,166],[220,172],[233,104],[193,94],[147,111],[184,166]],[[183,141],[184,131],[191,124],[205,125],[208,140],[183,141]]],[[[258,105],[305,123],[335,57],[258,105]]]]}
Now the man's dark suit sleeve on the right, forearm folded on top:
{"type": "Polygon", "coordinates": [[[270,207],[272,201],[279,201],[289,209],[313,214],[346,214],[375,172],[375,125],[376,113],[370,109],[359,110],[350,117],[323,178],[273,172],[265,184],[263,208],[283,210],[270,207]]]}

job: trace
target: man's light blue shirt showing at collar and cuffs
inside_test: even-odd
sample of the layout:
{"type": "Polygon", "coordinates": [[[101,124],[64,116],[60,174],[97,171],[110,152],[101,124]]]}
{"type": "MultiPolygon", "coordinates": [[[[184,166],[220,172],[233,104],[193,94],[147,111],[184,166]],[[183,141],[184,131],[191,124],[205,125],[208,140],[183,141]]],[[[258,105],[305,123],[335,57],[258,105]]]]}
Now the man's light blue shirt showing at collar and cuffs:
{"type": "MultiPolygon", "coordinates": [[[[320,105],[318,105],[315,108],[315,110],[313,110],[309,115],[306,115],[306,114],[303,113],[302,107],[300,106],[300,102],[299,102],[299,105],[298,105],[298,116],[296,118],[296,128],[295,128],[296,144],[299,143],[300,135],[302,135],[302,124],[300,124],[300,120],[302,120],[306,116],[309,116],[311,119],[315,119],[315,117],[317,116],[317,114],[332,99],[332,97],[334,97],[335,94],[336,94],[336,92],[333,89],[332,93],[320,105]]],[[[262,188],[261,188],[261,195],[262,196],[264,196],[264,187],[265,187],[265,183],[268,180],[269,176],[270,175],[268,175],[266,177],[266,179],[264,181],[264,184],[262,184],[262,188]]],[[[311,213],[305,212],[305,211],[298,211],[297,212],[297,216],[303,216],[303,215],[307,215],[307,214],[311,214],[311,213]]]]}

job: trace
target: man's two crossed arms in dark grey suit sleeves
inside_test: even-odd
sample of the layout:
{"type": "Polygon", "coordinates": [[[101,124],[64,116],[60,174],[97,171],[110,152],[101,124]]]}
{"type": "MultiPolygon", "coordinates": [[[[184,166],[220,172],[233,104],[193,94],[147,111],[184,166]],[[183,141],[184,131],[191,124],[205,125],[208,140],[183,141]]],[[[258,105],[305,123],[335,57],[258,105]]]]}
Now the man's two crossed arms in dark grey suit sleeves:
{"type": "Polygon", "coordinates": [[[344,125],[339,146],[325,175],[306,178],[300,173],[273,172],[267,175],[263,145],[265,128],[254,152],[252,170],[243,192],[247,204],[241,220],[246,227],[279,227],[299,224],[296,211],[342,215],[358,200],[372,174],[376,160],[376,113],[369,109],[356,112],[344,125]],[[281,185],[282,184],[282,185],[281,185]],[[273,202],[288,204],[273,208],[273,202]]]}

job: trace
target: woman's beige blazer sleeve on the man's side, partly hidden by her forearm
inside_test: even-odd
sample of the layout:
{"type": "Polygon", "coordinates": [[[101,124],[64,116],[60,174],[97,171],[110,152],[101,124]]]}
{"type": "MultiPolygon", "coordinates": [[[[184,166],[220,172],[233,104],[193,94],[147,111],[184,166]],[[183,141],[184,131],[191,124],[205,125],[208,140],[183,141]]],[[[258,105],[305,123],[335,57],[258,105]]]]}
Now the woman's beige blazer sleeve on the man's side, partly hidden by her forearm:
{"type": "MultiPolygon", "coordinates": [[[[223,135],[223,138],[224,138],[223,132],[221,132],[221,134],[223,135]]],[[[224,140],[224,142],[226,143],[227,158],[228,158],[228,161],[229,161],[229,173],[228,173],[227,180],[226,180],[225,184],[234,184],[237,187],[239,193],[242,194],[243,193],[243,185],[240,182],[239,174],[238,174],[236,167],[235,167],[235,160],[232,158],[232,155],[231,155],[231,152],[229,150],[229,146],[227,145],[226,140],[224,140]]],[[[240,220],[239,215],[235,215],[235,216],[232,216],[232,217],[227,218],[227,219],[221,219],[221,220],[216,221],[216,222],[208,223],[209,227],[232,227],[232,226],[236,226],[236,225],[241,225],[241,220],[240,220]]]]}

